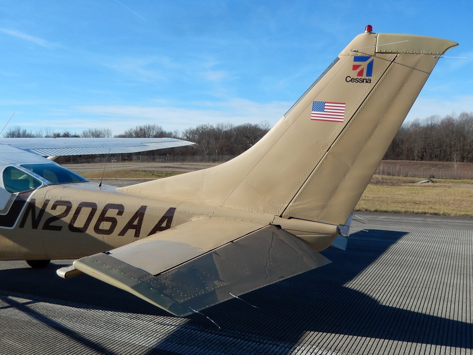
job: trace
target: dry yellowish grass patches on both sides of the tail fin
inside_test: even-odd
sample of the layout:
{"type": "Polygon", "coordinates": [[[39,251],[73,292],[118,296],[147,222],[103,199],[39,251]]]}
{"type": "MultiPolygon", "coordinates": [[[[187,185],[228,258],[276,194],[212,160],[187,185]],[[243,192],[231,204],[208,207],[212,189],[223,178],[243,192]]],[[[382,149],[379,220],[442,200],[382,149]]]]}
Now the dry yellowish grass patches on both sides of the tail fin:
{"type": "MultiPolygon", "coordinates": [[[[156,166],[158,168],[158,166],[156,166]]],[[[105,170],[81,175],[87,179],[158,179],[182,174],[175,170],[105,170]]],[[[432,179],[413,184],[418,177],[373,176],[356,211],[420,213],[473,217],[473,180],[432,179]]]]}

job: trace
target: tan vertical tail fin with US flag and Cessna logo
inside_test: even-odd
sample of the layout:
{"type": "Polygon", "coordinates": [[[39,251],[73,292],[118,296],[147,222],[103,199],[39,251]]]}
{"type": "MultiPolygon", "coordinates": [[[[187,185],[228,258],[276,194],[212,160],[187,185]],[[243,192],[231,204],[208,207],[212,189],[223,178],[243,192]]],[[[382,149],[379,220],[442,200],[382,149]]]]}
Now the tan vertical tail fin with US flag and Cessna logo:
{"type": "Polygon", "coordinates": [[[259,142],[217,167],[122,188],[343,224],[452,41],[363,33],[259,142]]]}

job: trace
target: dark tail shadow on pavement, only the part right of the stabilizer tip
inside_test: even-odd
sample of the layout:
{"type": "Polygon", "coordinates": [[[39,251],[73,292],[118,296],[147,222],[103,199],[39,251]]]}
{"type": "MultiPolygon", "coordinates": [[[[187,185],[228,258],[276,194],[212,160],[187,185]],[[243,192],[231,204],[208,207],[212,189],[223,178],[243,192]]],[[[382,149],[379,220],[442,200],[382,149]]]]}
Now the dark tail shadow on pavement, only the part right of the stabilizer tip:
{"type": "MultiPolygon", "coordinates": [[[[293,343],[304,332],[313,331],[471,348],[471,323],[386,306],[344,286],[405,234],[359,231],[350,236],[346,251],[329,248],[323,252],[333,261],[331,264],[242,296],[259,310],[231,300],[205,314],[228,330],[293,343]]],[[[402,275],[401,272],[399,277],[402,275]]],[[[373,280],[368,282],[376,284],[373,280]]],[[[206,321],[196,316],[194,321],[206,321]]],[[[172,335],[178,336],[178,332],[172,335]]]]}

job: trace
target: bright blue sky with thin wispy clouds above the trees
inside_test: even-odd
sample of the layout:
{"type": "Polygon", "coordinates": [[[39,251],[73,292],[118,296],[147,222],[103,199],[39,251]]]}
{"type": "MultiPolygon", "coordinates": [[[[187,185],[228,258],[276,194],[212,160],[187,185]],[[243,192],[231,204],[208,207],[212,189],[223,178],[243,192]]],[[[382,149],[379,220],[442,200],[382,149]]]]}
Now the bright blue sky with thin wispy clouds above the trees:
{"type": "Polygon", "coordinates": [[[472,112],[472,17],[472,1],[0,0],[0,126],[274,124],[367,24],[469,57],[439,61],[408,119],[472,112]]]}

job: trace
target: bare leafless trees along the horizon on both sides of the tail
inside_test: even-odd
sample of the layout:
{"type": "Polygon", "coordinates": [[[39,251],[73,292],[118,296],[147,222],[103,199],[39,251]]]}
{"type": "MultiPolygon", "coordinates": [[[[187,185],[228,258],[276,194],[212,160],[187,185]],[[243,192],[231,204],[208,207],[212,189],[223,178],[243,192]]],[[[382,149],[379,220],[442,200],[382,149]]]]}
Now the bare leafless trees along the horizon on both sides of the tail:
{"type": "MultiPolygon", "coordinates": [[[[179,147],[149,154],[156,155],[238,155],[258,142],[270,129],[267,121],[259,124],[201,124],[179,131],[165,131],[158,124],[144,124],[127,129],[114,137],[178,138],[195,142],[195,147],[179,147]]],[[[27,131],[11,127],[4,137],[113,137],[109,128],[89,128],[82,133],[54,132],[43,129],[27,131]]],[[[404,123],[386,151],[385,160],[426,160],[473,162],[473,113],[444,117],[430,116],[404,123]]]]}

